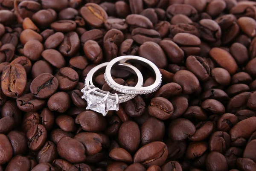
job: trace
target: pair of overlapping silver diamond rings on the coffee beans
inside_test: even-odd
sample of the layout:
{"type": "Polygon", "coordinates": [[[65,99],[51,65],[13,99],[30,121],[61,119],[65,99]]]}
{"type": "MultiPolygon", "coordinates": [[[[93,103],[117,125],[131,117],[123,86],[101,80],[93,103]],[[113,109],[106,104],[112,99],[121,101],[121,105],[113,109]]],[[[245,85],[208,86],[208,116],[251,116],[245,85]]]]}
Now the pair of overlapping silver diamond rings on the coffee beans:
{"type": "Polygon", "coordinates": [[[162,75],[157,66],[151,61],[139,56],[120,56],[114,58],[110,62],[99,64],[92,70],[90,70],[90,72],[88,72],[87,77],[84,81],[84,88],[81,90],[81,92],[83,93],[82,99],[85,99],[87,101],[87,110],[93,110],[98,113],[102,113],[103,116],[106,116],[108,111],[110,110],[119,110],[120,103],[129,101],[139,94],[148,94],[155,92],[159,89],[161,83],[162,75]],[[140,70],[129,64],[129,62],[140,63],[145,67],[148,67],[154,73],[155,82],[148,87],[143,87],[143,75],[141,74],[140,70]],[[104,68],[104,78],[106,83],[113,90],[120,92],[119,94],[110,93],[109,91],[103,91],[98,87],[94,86],[93,78],[96,72],[100,72],[104,70],[104,68]],[[136,74],[138,77],[137,84],[134,87],[129,87],[116,83],[111,76],[112,69],[127,70],[131,73],[136,74]]]}

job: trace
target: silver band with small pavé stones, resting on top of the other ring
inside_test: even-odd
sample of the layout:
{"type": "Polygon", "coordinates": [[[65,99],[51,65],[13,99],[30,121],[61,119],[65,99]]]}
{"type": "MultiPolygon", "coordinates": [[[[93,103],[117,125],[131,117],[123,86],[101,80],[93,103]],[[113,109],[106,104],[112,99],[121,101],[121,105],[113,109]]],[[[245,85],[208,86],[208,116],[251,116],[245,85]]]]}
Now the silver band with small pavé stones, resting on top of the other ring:
{"type": "Polygon", "coordinates": [[[148,93],[153,93],[156,90],[159,89],[159,87],[161,86],[162,83],[162,75],[159,71],[159,69],[157,68],[157,66],[149,61],[148,59],[139,57],[139,56],[132,56],[132,55],[128,55],[128,56],[120,56],[117,58],[114,58],[112,61],[109,62],[108,66],[106,67],[106,71],[104,74],[104,78],[105,81],[107,82],[107,84],[109,85],[109,87],[111,87],[113,90],[116,90],[118,92],[121,93],[125,93],[125,94],[148,94],[148,93]],[[151,71],[154,72],[154,76],[155,76],[155,82],[147,87],[128,87],[128,86],[123,86],[120,84],[117,84],[113,78],[111,77],[111,69],[113,66],[115,66],[116,64],[122,64],[125,62],[139,62],[140,64],[143,64],[144,66],[148,67],[151,71]]]}

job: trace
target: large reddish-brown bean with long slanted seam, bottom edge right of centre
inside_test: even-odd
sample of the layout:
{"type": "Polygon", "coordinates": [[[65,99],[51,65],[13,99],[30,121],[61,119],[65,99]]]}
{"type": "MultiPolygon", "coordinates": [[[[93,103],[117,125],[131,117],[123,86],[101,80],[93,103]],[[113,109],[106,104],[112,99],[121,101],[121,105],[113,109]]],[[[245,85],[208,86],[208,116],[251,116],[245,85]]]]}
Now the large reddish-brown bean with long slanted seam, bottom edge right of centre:
{"type": "Polygon", "coordinates": [[[155,141],[142,146],[134,155],[134,162],[141,163],[146,168],[151,165],[163,165],[167,155],[168,149],[166,144],[155,141]]]}

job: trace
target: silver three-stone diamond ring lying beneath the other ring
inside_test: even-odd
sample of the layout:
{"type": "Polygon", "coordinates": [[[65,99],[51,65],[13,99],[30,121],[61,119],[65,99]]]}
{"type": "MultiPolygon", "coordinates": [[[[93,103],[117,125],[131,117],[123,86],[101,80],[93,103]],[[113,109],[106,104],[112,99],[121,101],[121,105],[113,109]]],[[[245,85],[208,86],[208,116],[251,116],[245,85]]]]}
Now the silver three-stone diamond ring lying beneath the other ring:
{"type": "MultiPolygon", "coordinates": [[[[123,103],[125,101],[133,99],[136,95],[131,94],[117,94],[110,93],[107,91],[100,90],[98,87],[93,85],[93,75],[96,72],[104,69],[109,62],[99,64],[87,74],[87,77],[84,81],[84,88],[81,92],[84,94],[82,99],[87,101],[87,110],[93,110],[99,113],[102,113],[103,116],[106,116],[109,110],[119,110],[119,103],[123,103]]],[[[138,82],[135,87],[143,86],[143,76],[136,67],[131,64],[118,64],[117,68],[121,68],[123,70],[127,70],[137,75],[138,82]]]]}

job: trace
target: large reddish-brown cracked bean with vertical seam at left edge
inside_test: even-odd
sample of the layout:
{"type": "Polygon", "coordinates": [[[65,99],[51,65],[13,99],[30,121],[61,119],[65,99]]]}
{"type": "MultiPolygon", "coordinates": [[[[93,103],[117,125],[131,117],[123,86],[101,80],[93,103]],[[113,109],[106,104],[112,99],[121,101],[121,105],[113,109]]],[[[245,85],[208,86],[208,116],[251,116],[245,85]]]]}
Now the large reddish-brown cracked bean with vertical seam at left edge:
{"type": "Polygon", "coordinates": [[[7,65],[2,73],[2,91],[8,97],[19,97],[26,88],[26,81],[26,70],[22,65],[7,65]]]}

